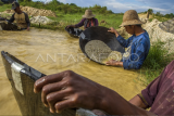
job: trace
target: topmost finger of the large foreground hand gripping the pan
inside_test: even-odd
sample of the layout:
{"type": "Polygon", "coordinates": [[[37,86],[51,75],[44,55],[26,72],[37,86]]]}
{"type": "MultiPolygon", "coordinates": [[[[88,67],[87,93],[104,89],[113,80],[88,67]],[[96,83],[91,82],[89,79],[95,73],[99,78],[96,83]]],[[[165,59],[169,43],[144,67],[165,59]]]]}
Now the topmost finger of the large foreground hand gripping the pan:
{"type": "Polygon", "coordinates": [[[38,79],[34,85],[34,92],[35,93],[39,92],[42,89],[42,87],[46,85],[61,81],[65,76],[66,76],[66,72],[63,72],[60,74],[54,74],[54,75],[46,76],[38,79]]]}

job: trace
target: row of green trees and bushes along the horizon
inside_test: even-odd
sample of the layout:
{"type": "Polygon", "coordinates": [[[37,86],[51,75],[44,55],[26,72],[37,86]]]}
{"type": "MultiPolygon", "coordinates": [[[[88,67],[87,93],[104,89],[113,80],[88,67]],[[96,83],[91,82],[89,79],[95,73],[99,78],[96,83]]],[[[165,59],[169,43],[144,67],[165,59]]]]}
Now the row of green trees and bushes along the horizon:
{"type": "Polygon", "coordinates": [[[84,13],[85,10],[87,9],[91,9],[95,13],[100,13],[100,14],[112,14],[113,12],[111,10],[108,10],[107,7],[101,7],[101,5],[94,5],[94,7],[89,7],[89,8],[80,8],[77,7],[74,3],[62,3],[60,1],[57,0],[52,0],[49,3],[44,3],[40,1],[37,2],[33,2],[33,1],[20,1],[21,5],[27,5],[27,7],[33,7],[33,8],[37,8],[37,9],[46,9],[46,10],[51,10],[51,11],[57,11],[57,12],[61,12],[64,14],[76,14],[76,13],[84,13]]]}

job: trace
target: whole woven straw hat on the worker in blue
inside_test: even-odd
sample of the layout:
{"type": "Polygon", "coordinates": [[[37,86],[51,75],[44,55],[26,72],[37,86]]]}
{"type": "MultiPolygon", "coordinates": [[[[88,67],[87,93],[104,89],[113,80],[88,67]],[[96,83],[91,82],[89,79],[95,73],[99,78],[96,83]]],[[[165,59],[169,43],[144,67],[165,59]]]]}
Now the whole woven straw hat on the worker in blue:
{"type": "Polygon", "coordinates": [[[138,13],[135,10],[129,10],[124,13],[123,23],[121,26],[141,24],[144,23],[139,20],[138,13]]]}

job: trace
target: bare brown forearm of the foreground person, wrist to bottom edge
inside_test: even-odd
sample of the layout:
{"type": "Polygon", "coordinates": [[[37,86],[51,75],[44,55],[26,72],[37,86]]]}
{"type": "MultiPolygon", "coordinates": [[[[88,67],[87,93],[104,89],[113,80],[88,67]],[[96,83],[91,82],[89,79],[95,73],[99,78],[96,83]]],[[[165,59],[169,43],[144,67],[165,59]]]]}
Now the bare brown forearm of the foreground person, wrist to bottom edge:
{"type": "Polygon", "coordinates": [[[101,102],[99,109],[102,109],[110,115],[145,115],[145,116],[152,116],[153,113],[150,113],[148,111],[145,111],[142,108],[139,108],[129,102],[127,102],[125,99],[123,99],[121,95],[119,95],[116,92],[107,89],[105,95],[103,98],[103,101],[101,102]]]}

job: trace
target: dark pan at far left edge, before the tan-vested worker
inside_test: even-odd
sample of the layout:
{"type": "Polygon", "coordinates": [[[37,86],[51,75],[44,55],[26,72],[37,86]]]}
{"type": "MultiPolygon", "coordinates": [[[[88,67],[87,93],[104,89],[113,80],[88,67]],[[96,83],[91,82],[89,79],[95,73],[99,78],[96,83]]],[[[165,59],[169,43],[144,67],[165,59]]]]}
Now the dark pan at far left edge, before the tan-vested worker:
{"type": "Polygon", "coordinates": [[[7,21],[1,21],[0,26],[3,30],[18,30],[18,27],[11,23],[5,23],[7,21]]]}

